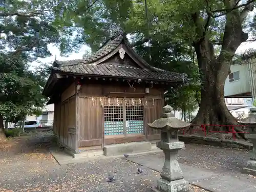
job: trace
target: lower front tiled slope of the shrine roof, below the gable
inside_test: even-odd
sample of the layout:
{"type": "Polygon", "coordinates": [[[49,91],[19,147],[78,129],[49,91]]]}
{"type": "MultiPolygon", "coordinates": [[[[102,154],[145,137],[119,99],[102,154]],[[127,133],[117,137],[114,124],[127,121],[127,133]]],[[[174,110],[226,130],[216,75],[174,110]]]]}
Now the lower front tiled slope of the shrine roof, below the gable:
{"type": "MultiPolygon", "coordinates": [[[[86,76],[108,76],[113,78],[123,77],[158,81],[183,81],[182,74],[179,73],[173,73],[165,70],[148,71],[131,66],[112,65],[111,63],[101,63],[99,65],[80,63],[79,65],[62,66],[60,68],[53,69],[57,71],[86,76]]],[[[185,81],[187,81],[186,78],[185,81]]]]}

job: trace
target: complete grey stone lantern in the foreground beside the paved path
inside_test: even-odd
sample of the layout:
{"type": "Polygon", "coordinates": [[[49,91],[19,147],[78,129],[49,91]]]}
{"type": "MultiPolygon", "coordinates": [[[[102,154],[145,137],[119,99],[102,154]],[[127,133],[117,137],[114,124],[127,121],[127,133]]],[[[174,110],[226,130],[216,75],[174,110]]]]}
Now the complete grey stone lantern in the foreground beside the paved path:
{"type": "Polygon", "coordinates": [[[186,192],[189,191],[189,183],[184,180],[177,161],[178,151],[185,145],[179,141],[178,130],[189,127],[190,123],[177,119],[171,106],[166,105],[163,109],[164,113],[160,119],[148,123],[151,128],[161,130],[161,141],[157,142],[157,147],[163,150],[165,155],[161,178],[157,181],[157,187],[152,189],[161,192],[186,192]]]}

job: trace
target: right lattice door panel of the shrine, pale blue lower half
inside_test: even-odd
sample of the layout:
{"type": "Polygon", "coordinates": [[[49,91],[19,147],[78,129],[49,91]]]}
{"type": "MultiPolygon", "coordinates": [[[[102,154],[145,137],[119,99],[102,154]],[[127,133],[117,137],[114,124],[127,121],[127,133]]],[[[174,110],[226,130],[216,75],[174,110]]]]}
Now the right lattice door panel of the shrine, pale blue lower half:
{"type": "Polygon", "coordinates": [[[143,106],[126,106],[126,133],[143,133],[143,106]]]}

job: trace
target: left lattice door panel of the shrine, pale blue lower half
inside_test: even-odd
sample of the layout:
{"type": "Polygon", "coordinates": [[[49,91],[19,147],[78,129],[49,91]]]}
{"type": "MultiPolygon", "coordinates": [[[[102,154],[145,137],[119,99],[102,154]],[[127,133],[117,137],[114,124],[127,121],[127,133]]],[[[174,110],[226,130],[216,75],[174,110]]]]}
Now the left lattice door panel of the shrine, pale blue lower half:
{"type": "Polygon", "coordinates": [[[104,134],[123,134],[123,108],[122,106],[104,106],[104,134]]]}

